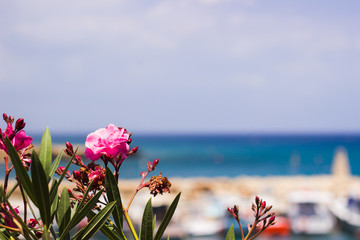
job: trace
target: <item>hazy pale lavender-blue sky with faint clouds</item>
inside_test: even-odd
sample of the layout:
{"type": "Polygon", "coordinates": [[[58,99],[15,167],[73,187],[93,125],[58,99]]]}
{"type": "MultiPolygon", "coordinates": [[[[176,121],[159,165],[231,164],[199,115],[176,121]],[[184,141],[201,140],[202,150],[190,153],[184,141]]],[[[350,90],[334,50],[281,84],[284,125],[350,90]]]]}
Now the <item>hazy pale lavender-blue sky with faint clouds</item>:
{"type": "Polygon", "coordinates": [[[0,111],[28,131],[360,132],[359,10],[0,0],[0,111]]]}

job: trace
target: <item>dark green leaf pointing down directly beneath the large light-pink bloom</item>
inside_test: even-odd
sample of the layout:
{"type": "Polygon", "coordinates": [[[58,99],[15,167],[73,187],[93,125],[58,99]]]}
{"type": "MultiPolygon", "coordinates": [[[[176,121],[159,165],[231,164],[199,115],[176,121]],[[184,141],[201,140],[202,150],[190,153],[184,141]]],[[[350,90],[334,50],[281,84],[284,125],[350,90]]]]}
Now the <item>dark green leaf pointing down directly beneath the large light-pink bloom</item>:
{"type": "Polygon", "coordinates": [[[109,202],[112,202],[112,201],[116,202],[115,209],[112,212],[112,215],[114,217],[114,222],[115,222],[116,226],[118,228],[120,228],[122,231],[123,208],[122,208],[120,192],[119,192],[119,188],[116,183],[115,177],[108,167],[106,167],[105,189],[106,189],[106,195],[108,197],[109,202]]]}

